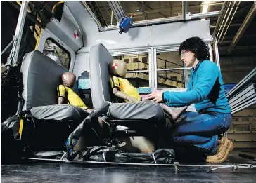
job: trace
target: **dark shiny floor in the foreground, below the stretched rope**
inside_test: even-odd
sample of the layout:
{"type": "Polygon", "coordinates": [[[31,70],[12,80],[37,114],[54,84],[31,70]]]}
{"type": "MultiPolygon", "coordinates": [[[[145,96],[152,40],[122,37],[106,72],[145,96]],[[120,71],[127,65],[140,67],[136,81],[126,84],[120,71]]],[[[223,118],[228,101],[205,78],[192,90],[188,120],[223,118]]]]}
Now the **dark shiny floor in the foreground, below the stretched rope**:
{"type": "MultiPolygon", "coordinates": [[[[238,152],[232,152],[229,162],[221,165],[238,163],[256,165],[256,161],[237,155],[238,152]]],[[[210,168],[181,167],[175,173],[174,167],[37,162],[1,165],[1,182],[256,182],[256,168],[238,168],[235,172],[232,168],[218,169],[210,173],[207,173],[207,170],[210,168]]]]}

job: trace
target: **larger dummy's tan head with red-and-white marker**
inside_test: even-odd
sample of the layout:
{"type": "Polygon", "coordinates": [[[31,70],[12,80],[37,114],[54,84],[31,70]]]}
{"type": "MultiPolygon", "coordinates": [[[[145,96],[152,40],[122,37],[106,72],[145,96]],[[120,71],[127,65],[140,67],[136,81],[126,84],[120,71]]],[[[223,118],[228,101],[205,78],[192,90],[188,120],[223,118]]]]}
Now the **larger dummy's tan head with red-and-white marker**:
{"type": "Polygon", "coordinates": [[[127,72],[127,65],[124,61],[114,59],[109,63],[108,68],[110,74],[116,74],[117,76],[125,78],[127,72]]]}

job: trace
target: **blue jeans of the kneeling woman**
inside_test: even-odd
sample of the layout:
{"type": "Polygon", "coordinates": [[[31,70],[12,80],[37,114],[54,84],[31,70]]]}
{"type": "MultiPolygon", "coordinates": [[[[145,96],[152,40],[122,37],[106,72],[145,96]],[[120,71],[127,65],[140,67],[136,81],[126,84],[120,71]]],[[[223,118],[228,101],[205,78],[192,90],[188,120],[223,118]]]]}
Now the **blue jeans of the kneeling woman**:
{"type": "Polygon", "coordinates": [[[204,154],[215,154],[218,135],[231,124],[231,114],[186,112],[187,117],[167,132],[168,141],[177,147],[192,147],[204,154]]]}

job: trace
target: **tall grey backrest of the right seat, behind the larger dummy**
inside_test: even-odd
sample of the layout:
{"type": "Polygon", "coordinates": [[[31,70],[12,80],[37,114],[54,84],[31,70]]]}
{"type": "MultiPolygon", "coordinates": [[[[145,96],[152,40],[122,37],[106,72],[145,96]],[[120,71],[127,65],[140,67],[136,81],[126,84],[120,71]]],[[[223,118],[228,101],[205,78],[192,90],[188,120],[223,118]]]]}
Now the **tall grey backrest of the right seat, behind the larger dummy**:
{"type": "Polygon", "coordinates": [[[113,60],[112,55],[102,44],[91,46],[90,49],[90,80],[91,98],[94,109],[99,109],[105,101],[110,101],[108,64],[113,60]]]}

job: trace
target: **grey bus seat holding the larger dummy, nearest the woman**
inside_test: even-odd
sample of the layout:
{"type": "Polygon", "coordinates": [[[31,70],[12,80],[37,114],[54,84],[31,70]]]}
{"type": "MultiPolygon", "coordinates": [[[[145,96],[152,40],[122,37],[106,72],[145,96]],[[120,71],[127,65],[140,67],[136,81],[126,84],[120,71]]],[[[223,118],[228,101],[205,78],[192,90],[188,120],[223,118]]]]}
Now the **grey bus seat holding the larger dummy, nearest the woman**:
{"type": "MultiPolygon", "coordinates": [[[[110,95],[110,75],[108,72],[108,64],[112,60],[113,57],[105,46],[102,44],[91,46],[89,55],[91,98],[96,110],[104,102],[113,102],[110,95]]],[[[150,126],[165,124],[162,107],[155,102],[112,103],[108,109],[108,114],[109,118],[106,122],[112,126],[111,132],[114,132],[118,125],[146,131],[145,126],[150,128],[150,126]]],[[[139,132],[139,130],[137,131],[139,132]]]]}

